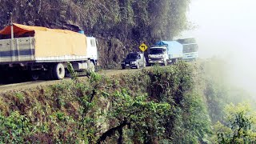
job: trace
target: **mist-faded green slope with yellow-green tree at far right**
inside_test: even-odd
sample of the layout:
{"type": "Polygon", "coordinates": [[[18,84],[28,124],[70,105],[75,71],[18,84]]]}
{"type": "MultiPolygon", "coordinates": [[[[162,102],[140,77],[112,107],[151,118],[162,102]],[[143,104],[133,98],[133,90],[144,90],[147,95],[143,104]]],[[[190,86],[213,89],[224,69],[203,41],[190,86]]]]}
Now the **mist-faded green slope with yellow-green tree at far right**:
{"type": "Polygon", "coordinates": [[[228,65],[218,58],[202,62],[203,93],[206,97],[213,143],[254,143],[255,100],[251,95],[230,83],[228,65]],[[230,103],[233,102],[233,103],[230,103]],[[248,102],[247,104],[241,102],[248,102]]]}

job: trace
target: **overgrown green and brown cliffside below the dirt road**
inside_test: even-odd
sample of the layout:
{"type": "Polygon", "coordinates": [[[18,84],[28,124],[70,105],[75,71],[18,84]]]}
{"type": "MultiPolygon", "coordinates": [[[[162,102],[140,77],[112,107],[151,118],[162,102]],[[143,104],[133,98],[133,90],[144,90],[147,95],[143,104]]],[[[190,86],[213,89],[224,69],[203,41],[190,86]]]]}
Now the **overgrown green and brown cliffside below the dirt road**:
{"type": "Polygon", "coordinates": [[[208,142],[210,118],[185,62],[110,78],[90,73],[2,94],[2,142],[208,142]]]}

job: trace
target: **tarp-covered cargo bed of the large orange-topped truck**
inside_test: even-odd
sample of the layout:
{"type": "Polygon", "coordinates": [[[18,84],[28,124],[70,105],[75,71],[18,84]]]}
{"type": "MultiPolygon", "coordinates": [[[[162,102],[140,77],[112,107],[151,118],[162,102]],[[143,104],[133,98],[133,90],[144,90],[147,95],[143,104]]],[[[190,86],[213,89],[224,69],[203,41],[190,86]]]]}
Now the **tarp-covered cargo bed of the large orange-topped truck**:
{"type": "Polygon", "coordinates": [[[82,61],[91,56],[84,34],[13,24],[11,38],[11,28],[0,30],[0,63],[82,61]]]}

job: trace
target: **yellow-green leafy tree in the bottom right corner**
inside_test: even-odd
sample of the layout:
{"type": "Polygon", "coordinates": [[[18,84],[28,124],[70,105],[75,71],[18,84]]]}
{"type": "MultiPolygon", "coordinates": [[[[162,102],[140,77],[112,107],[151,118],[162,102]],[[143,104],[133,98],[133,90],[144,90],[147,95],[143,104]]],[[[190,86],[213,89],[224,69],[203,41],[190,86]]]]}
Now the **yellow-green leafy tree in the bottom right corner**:
{"type": "Polygon", "coordinates": [[[215,141],[218,143],[254,143],[256,142],[256,117],[250,105],[239,103],[226,106],[224,124],[214,126],[215,141]]]}

